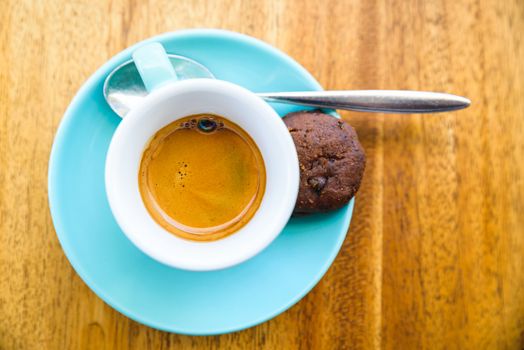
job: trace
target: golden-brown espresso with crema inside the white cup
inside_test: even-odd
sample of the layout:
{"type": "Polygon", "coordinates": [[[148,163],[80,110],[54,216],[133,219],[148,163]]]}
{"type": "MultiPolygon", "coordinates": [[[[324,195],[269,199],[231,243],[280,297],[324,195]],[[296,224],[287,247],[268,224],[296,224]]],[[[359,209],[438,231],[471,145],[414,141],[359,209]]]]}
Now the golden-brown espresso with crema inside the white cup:
{"type": "Polygon", "coordinates": [[[266,186],[262,155],[251,137],[217,115],[179,119],[144,150],[142,200],[167,231],[212,241],[238,231],[255,214],[266,186]]]}

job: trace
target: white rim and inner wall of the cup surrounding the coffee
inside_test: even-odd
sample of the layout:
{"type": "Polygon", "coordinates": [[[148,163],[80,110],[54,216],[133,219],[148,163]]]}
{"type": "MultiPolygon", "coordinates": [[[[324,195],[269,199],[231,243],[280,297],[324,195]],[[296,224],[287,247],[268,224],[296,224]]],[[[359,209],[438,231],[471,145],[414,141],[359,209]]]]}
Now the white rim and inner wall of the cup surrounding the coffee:
{"type": "Polygon", "coordinates": [[[232,83],[193,79],[155,90],[124,118],[109,147],[105,176],[111,210],[138,248],[164,264],[203,271],[245,261],[278,236],[295,205],[299,168],[291,136],[267,103],[232,83]],[[253,218],[212,242],[193,242],[164,230],[149,215],[138,188],[142,153],[151,137],[177,119],[200,113],[238,124],[259,147],[266,167],[264,197],[253,218]]]}

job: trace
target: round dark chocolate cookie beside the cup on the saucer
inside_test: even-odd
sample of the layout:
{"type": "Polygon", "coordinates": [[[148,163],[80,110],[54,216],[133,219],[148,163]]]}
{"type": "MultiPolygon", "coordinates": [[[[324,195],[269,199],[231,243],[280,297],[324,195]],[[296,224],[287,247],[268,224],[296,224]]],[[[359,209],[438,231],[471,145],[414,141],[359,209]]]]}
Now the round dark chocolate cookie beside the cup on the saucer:
{"type": "Polygon", "coordinates": [[[338,209],[360,187],[366,156],[346,122],[320,111],[284,117],[300,162],[300,188],[294,213],[338,209]]]}

